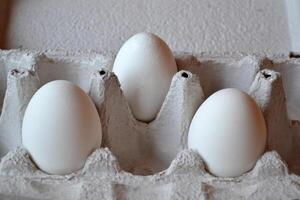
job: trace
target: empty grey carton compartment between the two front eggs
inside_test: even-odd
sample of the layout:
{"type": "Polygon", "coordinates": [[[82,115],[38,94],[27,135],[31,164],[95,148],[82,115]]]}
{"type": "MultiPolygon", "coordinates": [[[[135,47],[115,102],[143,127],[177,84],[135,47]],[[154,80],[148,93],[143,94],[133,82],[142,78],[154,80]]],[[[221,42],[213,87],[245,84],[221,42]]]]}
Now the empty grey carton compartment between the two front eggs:
{"type": "Polygon", "coordinates": [[[134,118],[117,77],[109,70],[93,74],[89,95],[100,114],[103,146],[118,158],[123,170],[138,175],[166,169],[186,148],[189,124],[204,99],[198,77],[183,70],[174,75],[150,123],[134,118]]]}

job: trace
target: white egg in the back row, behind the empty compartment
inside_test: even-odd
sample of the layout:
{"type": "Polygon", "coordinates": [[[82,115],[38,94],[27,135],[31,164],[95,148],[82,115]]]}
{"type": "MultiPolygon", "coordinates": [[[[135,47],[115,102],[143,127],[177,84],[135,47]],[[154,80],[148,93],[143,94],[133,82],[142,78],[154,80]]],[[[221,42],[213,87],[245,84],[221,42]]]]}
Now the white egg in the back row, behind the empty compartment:
{"type": "Polygon", "coordinates": [[[136,119],[153,120],[177,72],[168,45],[151,33],[139,33],[119,50],[113,72],[136,119]]]}

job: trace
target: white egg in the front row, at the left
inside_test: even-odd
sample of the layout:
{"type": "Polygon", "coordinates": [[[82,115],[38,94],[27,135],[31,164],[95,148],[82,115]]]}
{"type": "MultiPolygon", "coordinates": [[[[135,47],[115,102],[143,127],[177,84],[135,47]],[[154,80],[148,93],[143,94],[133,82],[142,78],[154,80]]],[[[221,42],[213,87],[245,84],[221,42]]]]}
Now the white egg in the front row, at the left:
{"type": "Polygon", "coordinates": [[[41,87],[23,119],[22,143],[32,160],[49,174],[69,174],[83,167],[101,145],[100,118],[92,100],[63,80],[41,87]]]}

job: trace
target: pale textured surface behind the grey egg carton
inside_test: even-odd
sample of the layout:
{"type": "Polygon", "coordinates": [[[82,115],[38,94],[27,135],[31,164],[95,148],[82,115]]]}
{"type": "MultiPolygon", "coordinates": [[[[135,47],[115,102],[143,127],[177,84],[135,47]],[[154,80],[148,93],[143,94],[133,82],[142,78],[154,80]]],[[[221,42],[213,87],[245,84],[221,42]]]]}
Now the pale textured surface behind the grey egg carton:
{"type": "Polygon", "coordinates": [[[192,53],[287,54],[295,46],[284,0],[1,1],[2,48],[117,51],[141,31],[192,53]]]}

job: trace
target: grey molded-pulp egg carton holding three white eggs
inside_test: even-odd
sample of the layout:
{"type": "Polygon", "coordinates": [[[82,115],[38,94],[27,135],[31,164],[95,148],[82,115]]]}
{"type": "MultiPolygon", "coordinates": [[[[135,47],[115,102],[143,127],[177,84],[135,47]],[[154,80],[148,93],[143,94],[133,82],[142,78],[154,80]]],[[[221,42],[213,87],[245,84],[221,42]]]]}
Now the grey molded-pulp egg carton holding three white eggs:
{"type": "Polygon", "coordinates": [[[113,60],[112,54],[95,52],[0,51],[0,199],[300,198],[300,59],[176,54],[179,72],[148,124],[133,117],[111,72],[113,60]],[[103,133],[102,147],[85,166],[64,176],[39,170],[21,145],[30,98],[56,79],[89,94],[103,133]],[[266,152],[235,178],[211,175],[187,148],[199,105],[227,87],[256,100],[268,129],[266,152]]]}

